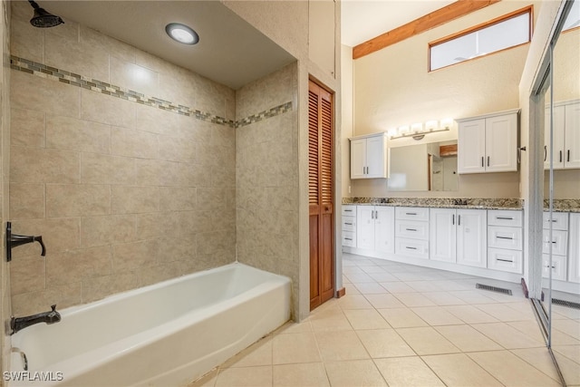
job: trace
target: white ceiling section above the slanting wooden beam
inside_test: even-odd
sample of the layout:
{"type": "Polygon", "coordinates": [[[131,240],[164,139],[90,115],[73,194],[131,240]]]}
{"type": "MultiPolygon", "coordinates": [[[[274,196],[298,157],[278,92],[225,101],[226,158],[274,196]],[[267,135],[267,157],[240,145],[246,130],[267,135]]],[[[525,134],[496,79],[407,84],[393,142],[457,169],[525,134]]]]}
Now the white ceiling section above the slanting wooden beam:
{"type": "Polygon", "coordinates": [[[342,43],[355,46],[455,0],[342,0],[342,43]]]}

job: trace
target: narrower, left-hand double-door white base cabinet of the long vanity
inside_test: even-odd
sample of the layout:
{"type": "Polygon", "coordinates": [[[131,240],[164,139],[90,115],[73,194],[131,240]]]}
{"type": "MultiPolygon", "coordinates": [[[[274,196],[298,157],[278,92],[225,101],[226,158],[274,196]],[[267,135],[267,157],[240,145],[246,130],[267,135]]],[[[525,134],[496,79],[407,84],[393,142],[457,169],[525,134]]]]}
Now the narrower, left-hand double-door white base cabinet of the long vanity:
{"type": "Polygon", "coordinates": [[[356,206],[356,247],[381,253],[394,252],[394,208],[356,206]]]}

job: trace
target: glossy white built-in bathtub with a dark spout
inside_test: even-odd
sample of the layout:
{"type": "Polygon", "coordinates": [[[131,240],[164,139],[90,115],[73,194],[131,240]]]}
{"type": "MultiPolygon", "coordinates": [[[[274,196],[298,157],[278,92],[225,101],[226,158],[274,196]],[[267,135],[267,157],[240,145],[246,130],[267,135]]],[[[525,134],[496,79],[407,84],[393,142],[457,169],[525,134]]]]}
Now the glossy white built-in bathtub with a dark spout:
{"type": "Polygon", "coordinates": [[[60,313],[12,336],[9,386],[179,386],[288,321],[290,280],[234,263],[60,313]]]}

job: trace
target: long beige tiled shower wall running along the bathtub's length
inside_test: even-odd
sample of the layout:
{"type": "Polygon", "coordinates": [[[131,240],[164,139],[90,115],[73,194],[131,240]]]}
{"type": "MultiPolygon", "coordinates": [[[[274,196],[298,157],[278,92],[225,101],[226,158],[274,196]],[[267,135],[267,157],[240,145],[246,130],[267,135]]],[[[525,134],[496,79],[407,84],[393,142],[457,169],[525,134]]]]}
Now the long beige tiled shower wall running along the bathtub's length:
{"type": "Polygon", "coordinates": [[[13,313],[234,261],[235,92],[11,3],[10,219],[47,249],[14,249],[13,313]]]}

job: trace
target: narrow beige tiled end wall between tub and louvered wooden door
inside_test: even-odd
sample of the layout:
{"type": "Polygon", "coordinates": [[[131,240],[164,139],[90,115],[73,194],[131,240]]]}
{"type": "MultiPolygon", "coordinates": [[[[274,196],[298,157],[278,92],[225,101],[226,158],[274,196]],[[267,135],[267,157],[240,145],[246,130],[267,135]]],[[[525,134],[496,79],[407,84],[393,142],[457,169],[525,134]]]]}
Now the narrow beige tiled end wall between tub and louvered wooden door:
{"type": "Polygon", "coordinates": [[[237,257],[242,263],[289,276],[298,311],[297,63],[236,92],[241,122],[253,111],[280,106],[281,114],[238,126],[237,257]]]}

